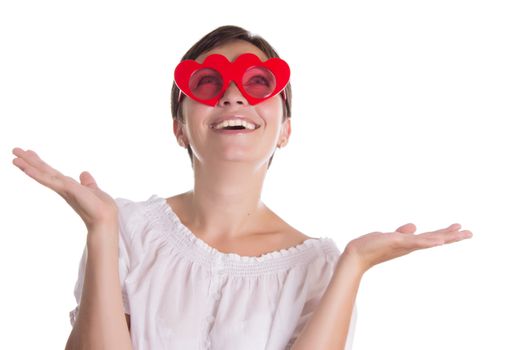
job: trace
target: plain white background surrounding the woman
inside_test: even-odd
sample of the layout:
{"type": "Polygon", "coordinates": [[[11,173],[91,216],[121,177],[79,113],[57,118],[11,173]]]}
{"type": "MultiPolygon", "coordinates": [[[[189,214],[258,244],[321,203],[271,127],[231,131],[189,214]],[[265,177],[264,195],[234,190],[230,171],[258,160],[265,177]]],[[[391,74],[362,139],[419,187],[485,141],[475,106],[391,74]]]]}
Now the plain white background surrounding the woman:
{"type": "Polygon", "coordinates": [[[407,222],[474,238],[374,267],[355,349],[524,349],[525,12],[520,1],[11,1],[0,5],[2,349],[63,348],[85,243],[12,165],[33,149],[114,197],[192,187],[173,69],[220,25],[292,69],[292,137],[263,200],[343,249],[407,222]]]}

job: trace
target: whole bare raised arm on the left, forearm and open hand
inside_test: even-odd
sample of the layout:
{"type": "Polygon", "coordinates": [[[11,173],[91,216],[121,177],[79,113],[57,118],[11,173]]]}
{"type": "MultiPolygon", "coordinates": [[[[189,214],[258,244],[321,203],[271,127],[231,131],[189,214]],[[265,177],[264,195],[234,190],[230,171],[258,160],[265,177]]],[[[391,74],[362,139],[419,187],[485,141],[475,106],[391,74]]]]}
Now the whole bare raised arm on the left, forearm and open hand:
{"type": "Polygon", "coordinates": [[[52,189],[86,224],[87,259],[82,296],[67,350],[132,349],[119,279],[119,221],[115,200],[87,171],[80,183],[49,166],[31,150],[14,148],[13,164],[52,189]]]}

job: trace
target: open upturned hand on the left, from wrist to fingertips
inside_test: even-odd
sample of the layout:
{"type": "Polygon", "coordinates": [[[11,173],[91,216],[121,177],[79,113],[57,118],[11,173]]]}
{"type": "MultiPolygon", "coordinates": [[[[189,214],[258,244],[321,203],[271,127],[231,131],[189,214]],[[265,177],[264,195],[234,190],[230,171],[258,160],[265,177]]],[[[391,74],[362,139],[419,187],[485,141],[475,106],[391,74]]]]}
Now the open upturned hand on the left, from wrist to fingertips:
{"type": "Polygon", "coordinates": [[[75,210],[86,224],[88,231],[118,225],[118,207],[115,200],[98,188],[87,171],[80,174],[80,183],[65,176],[45,163],[31,150],[15,147],[13,164],[29,177],[58,193],[75,210]]]}

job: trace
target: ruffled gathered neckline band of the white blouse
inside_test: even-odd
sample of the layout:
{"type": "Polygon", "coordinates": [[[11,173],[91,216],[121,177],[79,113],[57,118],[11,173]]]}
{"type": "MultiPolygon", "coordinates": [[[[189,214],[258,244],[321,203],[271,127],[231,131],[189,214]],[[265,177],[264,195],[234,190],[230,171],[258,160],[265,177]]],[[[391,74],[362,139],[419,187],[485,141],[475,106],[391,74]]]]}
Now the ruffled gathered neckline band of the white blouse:
{"type": "Polygon", "coordinates": [[[197,247],[199,247],[201,250],[206,252],[207,254],[213,255],[218,258],[222,258],[222,260],[230,260],[230,261],[236,261],[236,262],[261,262],[261,261],[267,261],[271,259],[279,259],[279,258],[289,258],[295,255],[299,255],[302,252],[305,252],[309,250],[312,247],[318,247],[319,249],[322,249],[323,246],[325,246],[325,250],[332,250],[335,249],[338,251],[335,242],[328,237],[320,237],[320,238],[308,238],[304,240],[302,243],[299,243],[295,246],[289,247],[289,248],[283,248],[280,250],[275,250],[272,252],[264,253],[259,256],[245,256],[245,255],[239,255],[237,253],[225,253],[222,252],[212,246],[210,246],[208,243],[197,237],[186,225],[182,223],[179,216],[175,211],[171,208],[166,198],[160,197],[156,194],[152,195],[148,201],[157,202],[163,212],[165,213],[166,217],[175,225],[175,227],[178,229],[178,232],[181,232],[190,242],[194,243],[197,247]]]}

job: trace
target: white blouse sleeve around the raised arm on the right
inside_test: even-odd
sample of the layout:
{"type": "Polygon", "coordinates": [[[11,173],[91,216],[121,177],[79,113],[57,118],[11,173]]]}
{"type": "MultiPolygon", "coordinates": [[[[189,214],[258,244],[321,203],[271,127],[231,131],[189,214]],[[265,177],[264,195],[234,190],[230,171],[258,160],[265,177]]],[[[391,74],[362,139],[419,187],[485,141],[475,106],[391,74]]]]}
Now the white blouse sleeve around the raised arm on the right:
{"type": "MultiPolygon", "coordinates": [[[[301,334],[303,328],[306,326],[307,322],[312,317],[313,313],[317,309],[321,298],[330,283],[332,275],[335,271],[339,255],[330,254],[327,255],[326,260],[318,259],[308,268],[308,281],[310,285],[308,286],[307,296],[305,299],[304,306],[301,310],[301,314],[298,320],[298,323],[294,329],[292,338],[288,342],[286,349],[291,348],[293,343],[296,341],[297,337],[301,334]]],[[[357,307],[354,304],[354,309],[352,311],[352,318],[350,325],[348,327],[348,333],[346,337],[345,350],[352,349],[352,343],[354,340],[355,334],[355,325],[357,322],[357,307]]]]}

